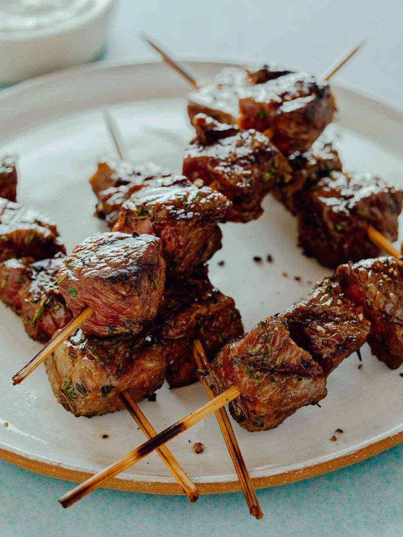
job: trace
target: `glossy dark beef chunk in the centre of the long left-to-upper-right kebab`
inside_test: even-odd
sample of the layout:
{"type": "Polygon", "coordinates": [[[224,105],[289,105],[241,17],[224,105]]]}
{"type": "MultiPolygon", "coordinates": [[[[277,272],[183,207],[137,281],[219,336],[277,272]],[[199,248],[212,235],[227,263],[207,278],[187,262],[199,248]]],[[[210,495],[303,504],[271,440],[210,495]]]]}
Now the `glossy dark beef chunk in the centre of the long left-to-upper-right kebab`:
{"type": "Polygon", "coordinates": [[[228,220],[248,222],[262,214],[261,202],[276,182],[291,179],[285,157],[256,130],[239,130],[198,114],[193,118],[196,137],[183,161],[191,180],[222,192],[233,202],[228,220]]]}

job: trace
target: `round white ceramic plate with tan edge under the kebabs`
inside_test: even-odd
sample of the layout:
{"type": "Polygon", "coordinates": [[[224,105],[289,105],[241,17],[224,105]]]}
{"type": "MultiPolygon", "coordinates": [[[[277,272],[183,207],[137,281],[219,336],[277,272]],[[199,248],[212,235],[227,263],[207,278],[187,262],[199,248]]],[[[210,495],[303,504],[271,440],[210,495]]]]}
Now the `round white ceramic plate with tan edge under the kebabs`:
{"type": "MultiPolygon", "coordinates": [[[[193,62],[201,76],[221,62],[193,62]]],[[[152,159],[181,170],[192,136],[185,114],[188,89],[163,64],[148,62],[78,68],[42,77],[0,93],[0,154],[19,156],[19,200],[51,215],[68,250],[95,231],[106,230],[92,216],[95,199],[88,178],[97,157],[113,155],[102,108],[111,112],[134,162],[152,159]]],[[[360,92],[335,85],[339,122],[329,129],[346,169],[382,174],[403,184],[403,115],[360,92]]],[[[246,330],[305,296],[326,274],[296,246],[296,222],[268,197],[263,216],[248,224],[225,224],[223,248],[210,262],[211,279],[234,297],[246,330]],[[274,263],[256,264],[268,254],[274,263]],[[224,259],[225,266],[218,266],[224,259]],[[286,272],[289,276],[282,275],[286,272]],[[296,281],[294,276],[302,280],[296,281]]],[[[41,473],[81,480],[144,440],[127,412],[92,419],[75,418],[57,404],[43,366],[21,386],[11,376],[38,351],[18,317],[0,305],[1,422],[0,455],[41,473]],[[107,434],[109,438],[102,439],[107,434]]],[[[403,440],[403,380],[363,348],[330,375],[322,408],[307,407],[278,429],[248,433],[234,424],[244,458],[257,487],[284,483],[345,466],[403,440]],[[344,433],[330,441],[336,429],[344,433]]],[[[142,402],[156,430],[162,430],[206,401],[198,384],[157,392],[142,402]]],[[[202,492],[236,490],[236,475],[214,416],[169,444],[202,492]],[[203,454],[192,451],[195,442],[203,454]]],[[[179,491],[152,454],[111,482],[114,488],[150,492],[179,491]]]]}

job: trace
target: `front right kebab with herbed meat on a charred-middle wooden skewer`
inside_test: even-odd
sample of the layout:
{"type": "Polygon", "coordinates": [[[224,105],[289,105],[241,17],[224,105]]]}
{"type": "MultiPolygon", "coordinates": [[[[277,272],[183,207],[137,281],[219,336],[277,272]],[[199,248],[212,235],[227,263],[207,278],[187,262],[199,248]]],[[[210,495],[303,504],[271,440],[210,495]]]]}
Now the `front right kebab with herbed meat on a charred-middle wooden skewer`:
{"type": "Polygon", "coordinates": [[[339,267],[305,300],[258,323],[218,353],[205,372],[219,394],[214,400],[78,485],[61,504],[72,505],[228,402],[233,402],[235,420],[247,430],[277,427],[297,409],[325,397],[328,374],[369,338],[378,357],[392,355],[394,366],[403,359],[403,347],[395,345],[402,304],[400,292],[391,296],[391,286],[402,284],[403,262],[395,258],[339,267]],[[390,337],[384,340],[381,333],[390,337]]]}

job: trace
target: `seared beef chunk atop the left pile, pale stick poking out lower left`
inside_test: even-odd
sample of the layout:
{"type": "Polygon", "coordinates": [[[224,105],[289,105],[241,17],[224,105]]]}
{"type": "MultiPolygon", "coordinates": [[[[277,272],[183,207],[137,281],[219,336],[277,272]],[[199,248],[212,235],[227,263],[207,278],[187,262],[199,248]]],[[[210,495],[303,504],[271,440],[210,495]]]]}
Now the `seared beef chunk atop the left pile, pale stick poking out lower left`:
{"type": "Polygon", "coordinates": [[[97,233],[76,246],[59,272],[60,292],[76,316],[95,312],[84,333],[139,333],[157,314],[165,284],[159,238],[97,233]]]}

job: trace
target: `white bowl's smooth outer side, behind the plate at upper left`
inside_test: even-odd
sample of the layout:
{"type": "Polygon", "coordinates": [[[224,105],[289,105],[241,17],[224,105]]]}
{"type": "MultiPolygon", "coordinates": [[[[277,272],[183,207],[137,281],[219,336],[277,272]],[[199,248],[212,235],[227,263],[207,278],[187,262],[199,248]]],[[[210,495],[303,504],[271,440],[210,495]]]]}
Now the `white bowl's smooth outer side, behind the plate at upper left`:
{"type": "Polygon", "coordinates": [[[88,10],[53,26],[0,30],[0,84],[20,82],[98,57],[116,2],[96,0],[88,10]]]}

